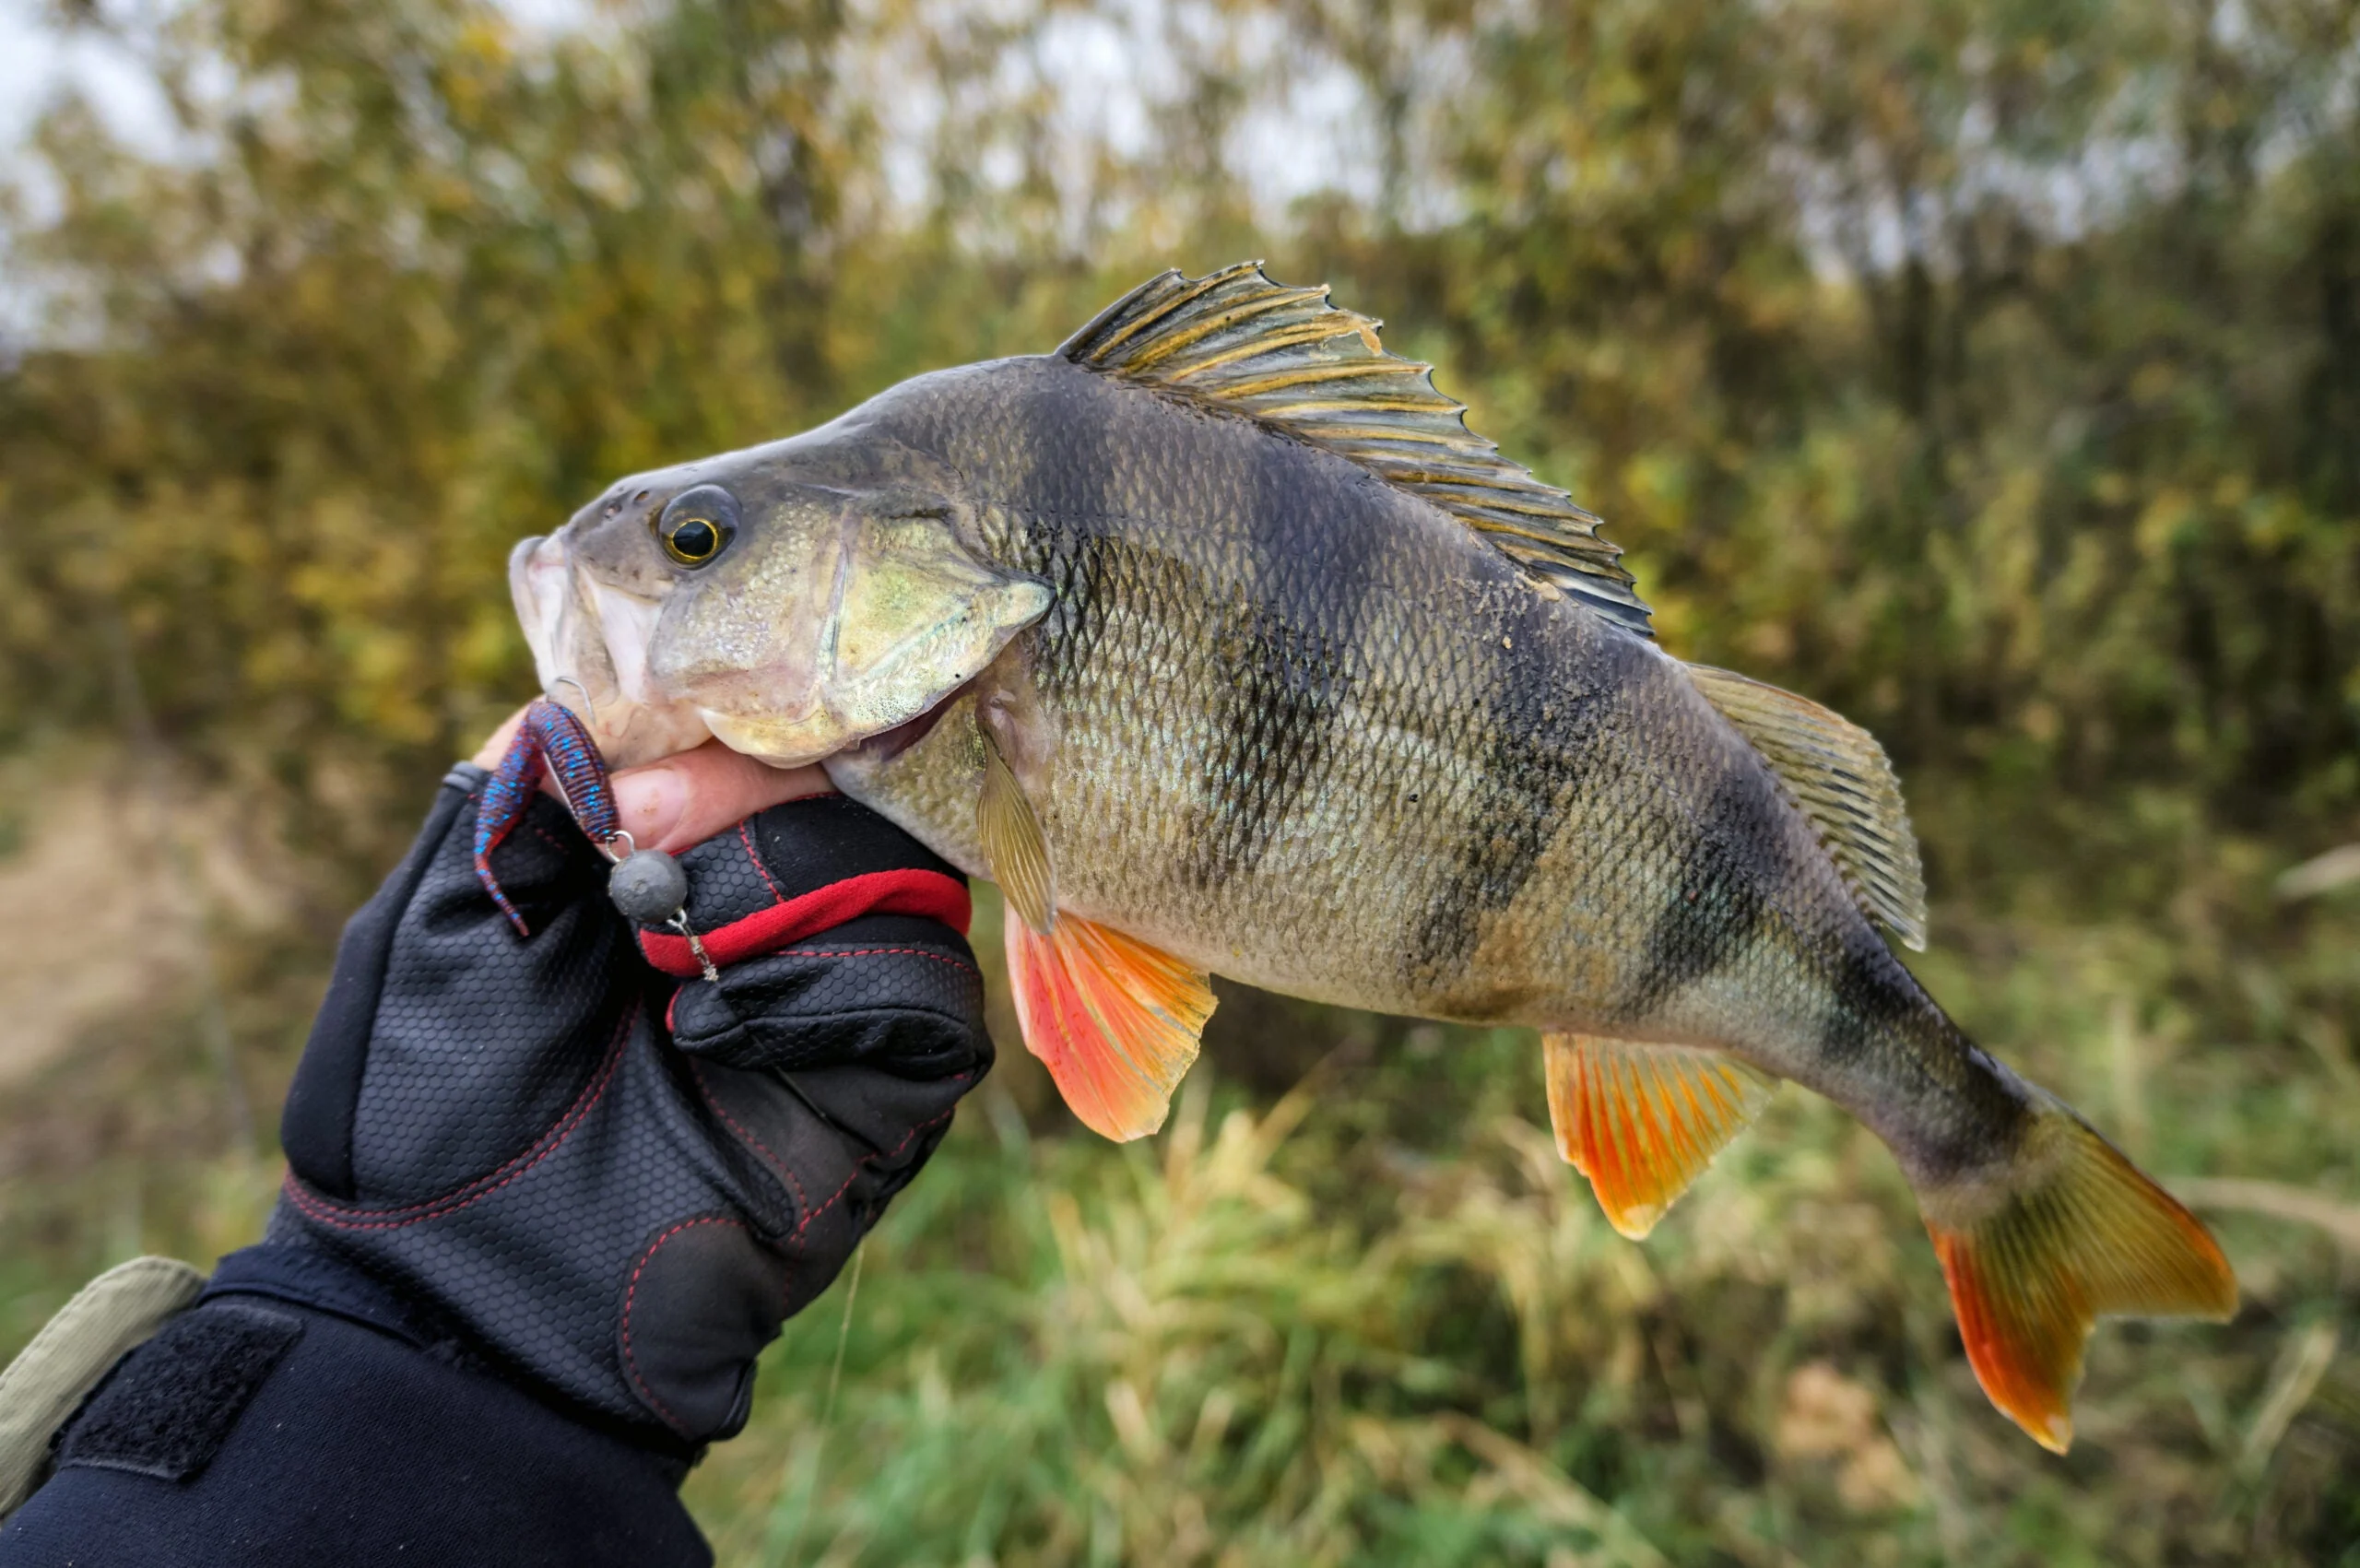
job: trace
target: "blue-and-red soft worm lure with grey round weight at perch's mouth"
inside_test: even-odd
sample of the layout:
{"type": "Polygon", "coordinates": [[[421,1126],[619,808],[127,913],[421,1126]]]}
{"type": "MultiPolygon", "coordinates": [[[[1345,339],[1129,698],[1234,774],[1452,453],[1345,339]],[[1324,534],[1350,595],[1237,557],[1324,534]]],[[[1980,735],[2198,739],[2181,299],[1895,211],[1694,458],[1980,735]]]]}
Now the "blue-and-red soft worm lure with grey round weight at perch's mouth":
{"type": "Polygon", "coordinates": [[[706,956],[706,945],[689,928],[687,871],[663,850],[642,850],[632,841],[616,815],[614,784],[597,741],[590,739],[583,720],[548,697],[536,697],[524,708],[524,723],[517,725],[517,737],[507,741],[507,753],[484,784],[484,801],[474,817],[474,876],[507,916],[507,923],[517,928],[517,935],[529,937],[531,928],[500,888],[500,878],[493,876],[491,852],[524,822],[524,810],[533,803],[543,775],[557,782],[557,793],[573,812],[573,822],[614,864],[607,876],[607,897],[614,900],[614,907],[642,926],[670,926],[684,935],[689,952],[706,971],[706,980],[720,980],[720,971],[706,956]]]}

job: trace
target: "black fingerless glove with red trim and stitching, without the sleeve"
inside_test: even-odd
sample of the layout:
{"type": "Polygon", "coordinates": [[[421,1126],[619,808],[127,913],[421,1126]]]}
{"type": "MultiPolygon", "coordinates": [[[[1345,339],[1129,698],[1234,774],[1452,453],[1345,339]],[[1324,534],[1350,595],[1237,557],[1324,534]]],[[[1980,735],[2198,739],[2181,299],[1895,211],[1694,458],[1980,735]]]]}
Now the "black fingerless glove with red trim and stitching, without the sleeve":
{"type": "MultiPolygon", "coordinates": [[[[840,796],[776,805],[682,855],[722,978],[644,937],[694,975],[675,985],[550,801],[496,852],[533,935],[507,928],[470,862],[481,779],[446,779],[345,933],[267,1249],[359,1270],[505,1377],[689,1455],[743,1426],[755,1353],[991,1065],[965,883],[840,796]]],[[[271,1289],[238,1280],[215,1289],[271,1289]]]]}

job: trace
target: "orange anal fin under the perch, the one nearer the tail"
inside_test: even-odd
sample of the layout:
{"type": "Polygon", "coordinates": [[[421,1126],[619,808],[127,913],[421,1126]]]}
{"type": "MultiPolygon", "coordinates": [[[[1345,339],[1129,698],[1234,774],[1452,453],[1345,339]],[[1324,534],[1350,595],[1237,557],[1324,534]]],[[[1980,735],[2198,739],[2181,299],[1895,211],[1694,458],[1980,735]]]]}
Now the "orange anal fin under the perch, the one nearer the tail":
{"type": "Polygon", "coordinates": [[[1543,1034],[1558,1152],[1607,1223],[1640,1240],[1770,1103],[1777,1079],[1718,1051],[1543,1034]]]}

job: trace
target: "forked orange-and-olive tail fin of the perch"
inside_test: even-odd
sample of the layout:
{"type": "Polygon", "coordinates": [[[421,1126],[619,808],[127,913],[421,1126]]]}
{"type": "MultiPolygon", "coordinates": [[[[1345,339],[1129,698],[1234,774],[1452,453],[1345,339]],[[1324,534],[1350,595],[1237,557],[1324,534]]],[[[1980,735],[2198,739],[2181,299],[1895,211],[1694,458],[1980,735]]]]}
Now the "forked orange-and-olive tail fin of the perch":
{"type": "Polygon", "coordinates": [[[2082,1341],[2103,1315],[2225,1320],[2237,1278],[2188,1209],[2063,1100],[1997,1174],[1926,1183],[1933,1233],[1975,1379],[2041,1448],[2072,1443],[2082,1341]]]}

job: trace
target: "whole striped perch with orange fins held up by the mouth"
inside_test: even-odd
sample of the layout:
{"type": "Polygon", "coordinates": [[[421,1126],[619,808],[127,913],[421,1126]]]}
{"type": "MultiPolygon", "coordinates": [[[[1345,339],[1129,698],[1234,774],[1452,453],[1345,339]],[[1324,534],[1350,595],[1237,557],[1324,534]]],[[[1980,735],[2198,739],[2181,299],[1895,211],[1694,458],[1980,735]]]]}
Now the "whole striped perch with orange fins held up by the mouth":
{"type": "Polygon", "coordinates": [[[1652,638],[1598,520],[1376,321],[1178,272],[1053,354],[637,475],[512,560],[614,763],[703,741],[1001,886],[1027,1046],[1161,1126],[1211,973],[1529,1025],[1558,1148],[1645,1235],[1791,1079],[1909,1176],[1992,1400],[2063,1450],[2107,1313],[2225,1318],[2211,1235],[1897,961],[1879,744],[1652,638]]]}

